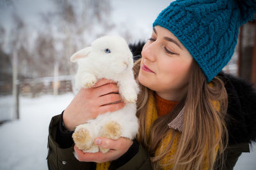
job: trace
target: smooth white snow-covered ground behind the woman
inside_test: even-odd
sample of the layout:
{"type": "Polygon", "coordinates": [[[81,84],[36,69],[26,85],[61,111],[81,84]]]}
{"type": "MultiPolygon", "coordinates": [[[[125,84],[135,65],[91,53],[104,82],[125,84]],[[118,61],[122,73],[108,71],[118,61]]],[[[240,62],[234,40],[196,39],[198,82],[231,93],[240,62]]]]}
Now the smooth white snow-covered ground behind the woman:
{"type": "MultiPolygon", "coordinates": [[[[61,113],[72,100],[73,94],[20,97],[20,120],[0,126],[0,169],[47,169],[47,136],[51,117],[61,113]]],[[[256,148],[243,153],[236,170],[255,170],[256,148]]]]}

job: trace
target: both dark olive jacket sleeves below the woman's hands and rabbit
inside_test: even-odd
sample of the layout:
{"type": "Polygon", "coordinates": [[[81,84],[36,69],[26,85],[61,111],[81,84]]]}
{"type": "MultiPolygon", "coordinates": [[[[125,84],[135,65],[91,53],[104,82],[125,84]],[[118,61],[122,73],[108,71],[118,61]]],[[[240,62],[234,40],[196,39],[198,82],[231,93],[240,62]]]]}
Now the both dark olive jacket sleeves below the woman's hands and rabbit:
{"type": "MultiPolygon", "coordinates": [[[[60,124],[60,115],[52,117],[49,126],[47,164],[50,170],[76,170],[76,169],[95,169],[95,164],[92,162],[79,162],[74,157],[74,148],[60,148],[56,143],[56,132],[60,124]]],[[[139,152],[124,166],[118,167],[118,170],[125,169],[152,169],[148,154],[143,146],[139,146],[139,152]]]]}

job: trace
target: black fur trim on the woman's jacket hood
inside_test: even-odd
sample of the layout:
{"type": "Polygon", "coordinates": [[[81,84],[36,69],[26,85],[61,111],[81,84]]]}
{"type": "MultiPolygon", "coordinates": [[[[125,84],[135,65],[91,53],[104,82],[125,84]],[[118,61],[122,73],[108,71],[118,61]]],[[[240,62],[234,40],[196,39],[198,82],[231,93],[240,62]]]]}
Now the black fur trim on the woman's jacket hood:
{"type": "MultiPolygon", "coordinates": [[[[129,45],[134,60],[140,59],[145,42],[129,45]]],[[[228,143],[256,142],[256,92],[252,84],[240,78],[219,73],[228,94],[227,128],[228,143]]]]}

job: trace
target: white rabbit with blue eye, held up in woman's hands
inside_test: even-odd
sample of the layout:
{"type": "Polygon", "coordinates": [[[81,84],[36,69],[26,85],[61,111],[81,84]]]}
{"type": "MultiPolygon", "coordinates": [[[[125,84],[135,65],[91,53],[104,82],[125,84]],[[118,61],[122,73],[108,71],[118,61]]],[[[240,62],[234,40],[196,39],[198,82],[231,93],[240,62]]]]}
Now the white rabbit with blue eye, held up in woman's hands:
{"type": "Polygon", "coordinates": [[[77,148],[83,152],[108,152],[98,148],[94,139],[107,137],[134,139],[138,132],[136,100],[139,87],[132,71],[132,53],[126,41],[119,36],[103,36],[71,56],[78,63],[76,88],[92,87],[100,78],[117,82],[119,93],[125,101],[124,108],[99,115],[85,124],[78,125],[72,135],[77,148]]]}

